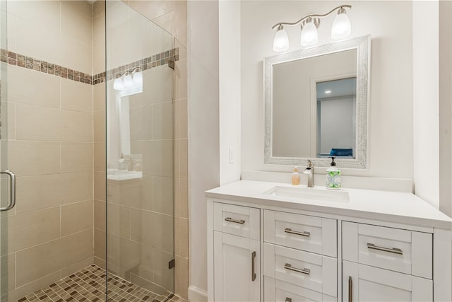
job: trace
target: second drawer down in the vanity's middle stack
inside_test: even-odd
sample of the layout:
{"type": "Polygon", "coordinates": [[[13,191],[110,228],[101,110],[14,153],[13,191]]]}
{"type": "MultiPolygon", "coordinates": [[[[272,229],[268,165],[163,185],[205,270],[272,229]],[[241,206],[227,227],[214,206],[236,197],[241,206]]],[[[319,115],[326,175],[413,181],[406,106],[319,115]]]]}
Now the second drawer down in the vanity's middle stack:
{"type": "Polygon", "coordinates": [[[337,260],[263,243],[263,275],[312,291],[337,296],[337,260]]]}

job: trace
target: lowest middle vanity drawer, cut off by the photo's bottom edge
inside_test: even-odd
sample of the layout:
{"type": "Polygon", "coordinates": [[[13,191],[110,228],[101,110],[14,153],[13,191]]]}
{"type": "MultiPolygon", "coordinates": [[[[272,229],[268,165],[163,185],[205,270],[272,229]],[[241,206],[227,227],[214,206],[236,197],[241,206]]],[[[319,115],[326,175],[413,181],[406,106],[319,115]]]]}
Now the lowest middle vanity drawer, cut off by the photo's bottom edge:
{"type": "Polygon", "coordinates": [[[336,302],[337,298],[311,291],[285,281],[263,277],[263,301],[265,302],[336,302]]]}

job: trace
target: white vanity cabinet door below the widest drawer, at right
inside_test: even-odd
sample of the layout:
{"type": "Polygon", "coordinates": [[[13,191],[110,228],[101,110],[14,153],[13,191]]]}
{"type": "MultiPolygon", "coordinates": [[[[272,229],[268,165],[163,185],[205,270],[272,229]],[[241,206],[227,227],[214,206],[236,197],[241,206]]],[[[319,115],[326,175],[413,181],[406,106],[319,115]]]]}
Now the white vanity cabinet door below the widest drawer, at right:
{"type": "Polygon", "coordinates": [[[343,261],[343,301],[432,301],[433,281],[343,261]]]}

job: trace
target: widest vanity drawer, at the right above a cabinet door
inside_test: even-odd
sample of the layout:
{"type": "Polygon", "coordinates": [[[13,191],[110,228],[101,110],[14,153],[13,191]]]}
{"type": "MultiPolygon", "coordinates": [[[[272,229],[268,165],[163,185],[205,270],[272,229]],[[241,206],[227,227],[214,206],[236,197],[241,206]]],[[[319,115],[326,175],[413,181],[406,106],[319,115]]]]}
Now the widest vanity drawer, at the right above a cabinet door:
{"type": "Polygon", "coordinates": [[[343,221],[343,260],[432,279],[432,234],[343,221]]]}

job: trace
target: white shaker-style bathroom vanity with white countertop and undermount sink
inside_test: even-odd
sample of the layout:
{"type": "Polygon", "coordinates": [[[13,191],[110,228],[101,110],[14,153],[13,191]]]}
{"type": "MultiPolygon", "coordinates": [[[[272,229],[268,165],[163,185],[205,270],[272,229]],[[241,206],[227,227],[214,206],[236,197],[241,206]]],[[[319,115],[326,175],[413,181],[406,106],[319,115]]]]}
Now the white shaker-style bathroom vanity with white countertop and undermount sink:
{"type": "Polygon", "coordinates": [[[208,301],[452,301],[451,219],[415,194],[206,192],[208,301]]]}

